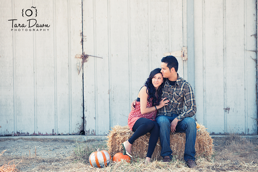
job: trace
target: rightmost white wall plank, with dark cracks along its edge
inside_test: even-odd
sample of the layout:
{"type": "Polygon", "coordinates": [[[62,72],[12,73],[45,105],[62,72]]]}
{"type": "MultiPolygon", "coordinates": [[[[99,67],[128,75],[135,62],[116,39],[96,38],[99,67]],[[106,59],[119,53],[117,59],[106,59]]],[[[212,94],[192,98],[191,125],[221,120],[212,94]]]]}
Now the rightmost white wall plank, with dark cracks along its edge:
{"type": "Polygon", "coordinates": [[[245,55],[246,55],[246,65],[245,65],[245,96],[246,96],[246,126],[245,126],[245,134],[257,134],[257,103],[256,103],[256,58],[257,50],[255,35],[257,35],[256,31],[256,21],[257,21],[257,13],[255,10],[256,3],[255,1],[245,1],[245,55]]]}

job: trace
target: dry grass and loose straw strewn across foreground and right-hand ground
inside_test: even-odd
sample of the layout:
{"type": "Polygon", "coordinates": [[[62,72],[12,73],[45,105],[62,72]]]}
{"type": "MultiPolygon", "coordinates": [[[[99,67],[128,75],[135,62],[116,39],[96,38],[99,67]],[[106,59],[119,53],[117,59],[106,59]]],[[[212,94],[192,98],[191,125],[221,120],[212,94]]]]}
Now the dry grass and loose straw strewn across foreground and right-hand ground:
{"type": "MultiPolygon", "coordinates": [[[[14,157],[4,157],[0,159],[9,162],[14,159],[14,163],[17,164],[21,159],[22,163],[16,165],[16,168],[20,171],[60,171],[60,172],[142,172],[142,171],[175,171],[175,172],[218,172],[218,171],[239,171],[239,172],[257,172],[258,171],[258,138],[253,140],[246,137],[242,137],[236,134],[226,135],[224,137],[213,137],[213,149],[214,154],[209,157],[196,157],[197,167],[189,169],[185,162],[174,158],[169,164],[165,164],[157,159],[152,159],[152,163],[147,166],[144,165],[144,159],[134,158],[132,163],[124,161],[118,163],[110,163],[105,168],[91,167],[87,163],[89,158],[86,152],[96,151],[96,148],[102,148],[107,150],[107,145],[98,144],[96,141],[94,144],[89,143],[78,143],[84,150],[84,157],[77,159],[78,157],[74,154],[73,157],[66,159],[43,159],[37,156],[37,158],[29,159],[28,157],[20,157],[14,159],[14,157]],[[73,161],[76,160],[76,161],[73,161]],[[84,162],[84,163],[83,163],[84,162]]],[[[78,149],[79,150],[79,149],[78,149]]],[[[1,156],[3,157],[3,156],[1,156]]]]}

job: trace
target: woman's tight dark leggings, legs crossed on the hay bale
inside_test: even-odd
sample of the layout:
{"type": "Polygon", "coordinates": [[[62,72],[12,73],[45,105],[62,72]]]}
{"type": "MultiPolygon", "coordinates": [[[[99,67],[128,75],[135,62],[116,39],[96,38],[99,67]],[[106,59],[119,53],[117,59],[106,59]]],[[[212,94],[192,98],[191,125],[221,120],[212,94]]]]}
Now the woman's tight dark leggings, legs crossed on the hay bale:
{"type": "Polygon", "coordinates": [[[153,151],[159,139],[159,124],[156,121],[152,121],[146,118],[139,118],[132,128],[134,134],[129,138],[129,143],[133,144],[134,141],[143,136],[144,134],[150,133],[149,147],[146,157],[151,158],[153,151]]]}

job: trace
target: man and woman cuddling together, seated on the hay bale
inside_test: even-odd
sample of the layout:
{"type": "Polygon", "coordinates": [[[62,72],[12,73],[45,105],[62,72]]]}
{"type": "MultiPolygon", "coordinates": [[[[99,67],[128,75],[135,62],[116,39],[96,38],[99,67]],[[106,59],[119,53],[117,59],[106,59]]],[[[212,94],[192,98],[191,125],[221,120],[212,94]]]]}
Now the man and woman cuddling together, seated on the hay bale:
{"type": "Polygon", "coordinates": [[[185,132],[184,160],[189,168],[195,164],[196,122],[192,117],[196,113],[196,103],[191,85],[177,74],[178,62],[174,56],[161,60],[161,69],[151,71],[145,85],[140,89],[137,100],[132,102],[132,111],[128,117],[128,126],[134,131],[132,136],[122,143],[126,154],[132,157],[134,141],[150,133],[145,164],[150,162],[155,146],[160,138],[163,162],[170,162],[170,131],[185,132]],[[185,108],[186,106],[186,108],[185,108]]]}

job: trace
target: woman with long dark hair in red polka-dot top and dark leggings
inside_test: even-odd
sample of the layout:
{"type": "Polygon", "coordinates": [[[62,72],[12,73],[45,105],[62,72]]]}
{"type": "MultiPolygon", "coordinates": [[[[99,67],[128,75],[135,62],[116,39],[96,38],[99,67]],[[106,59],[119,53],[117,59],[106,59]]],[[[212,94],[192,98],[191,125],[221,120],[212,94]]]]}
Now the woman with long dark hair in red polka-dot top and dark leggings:
{"type": "MultiPolygon", "coordinates": [[[[129,140],[122,143],[126,154],[130,157],[131,148],[134,141],[146,133],[150,133],[149,146],[145,159],[145,165],[150,162],[150,158],[159,139],[159,124],[155,121],[157,109],[167,105],[169,100],[161,100],[162,89],[159,86],[163,83],[163,76],[157,68],[150,72],[149,78],[144,86],[140,89],[136,101],[135,110],[132,110],[128,117],[128,126],[134,131],[129,140]]],[[[162,87],[162,86],[161,86],[162,87]]]]}

